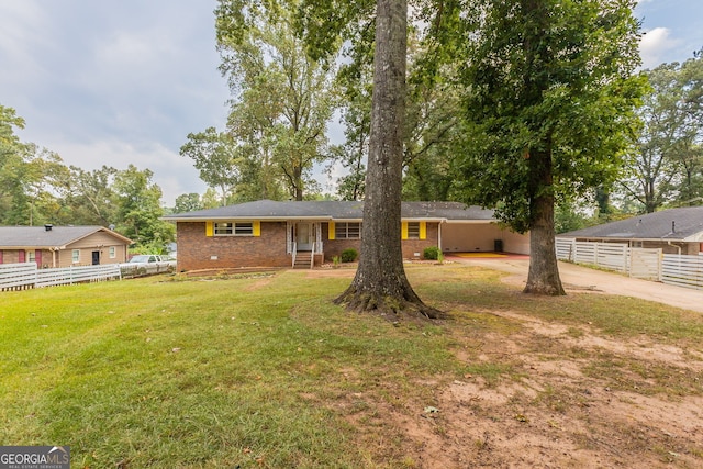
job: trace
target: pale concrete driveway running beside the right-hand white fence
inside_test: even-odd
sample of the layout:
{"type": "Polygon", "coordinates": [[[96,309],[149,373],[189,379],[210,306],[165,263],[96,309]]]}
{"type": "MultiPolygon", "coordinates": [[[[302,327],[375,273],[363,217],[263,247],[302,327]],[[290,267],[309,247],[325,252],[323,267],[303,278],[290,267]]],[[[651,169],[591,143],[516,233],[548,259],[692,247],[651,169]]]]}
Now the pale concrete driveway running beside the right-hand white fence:
{"type": "MultiPolygon", "coordinates": [[[[529,258],[527,256],[507,257],[456,257],[447,260],[511,273],[504,280],[509,283],[525,286],[529,258]]],[[[703,291],[674,287],[649,280],[633,279],[620,273],[590,269],[570,263],[559,263],[559,275],[563,288],[569,291],[594,291],[607,294],[641,298],[671,306],[703,313],[703,291]]]]}

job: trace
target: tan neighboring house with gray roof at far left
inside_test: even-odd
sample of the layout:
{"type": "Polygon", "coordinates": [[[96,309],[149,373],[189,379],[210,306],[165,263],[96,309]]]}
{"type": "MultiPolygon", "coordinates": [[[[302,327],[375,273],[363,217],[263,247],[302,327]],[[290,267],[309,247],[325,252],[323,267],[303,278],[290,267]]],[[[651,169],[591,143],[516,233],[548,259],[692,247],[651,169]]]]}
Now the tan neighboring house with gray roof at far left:
{"type": "Polygon", "coordinates": [[[119,264],[127,260],[130,244],[130,238],[103,226],[0,226],[0,264],[119,264]]]}

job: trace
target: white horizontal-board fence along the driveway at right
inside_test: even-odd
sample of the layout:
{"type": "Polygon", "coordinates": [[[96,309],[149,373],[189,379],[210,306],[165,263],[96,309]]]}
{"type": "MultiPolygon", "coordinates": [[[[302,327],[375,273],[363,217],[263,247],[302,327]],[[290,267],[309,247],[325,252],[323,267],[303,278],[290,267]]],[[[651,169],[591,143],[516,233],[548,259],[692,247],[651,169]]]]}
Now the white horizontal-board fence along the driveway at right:
{"type": "Polygon", "coordinates": [[[556,245],[560,260],[590,264],[629,277],[703,290],[703,256],[662,254],[661,249],[567,238],[557,238],[556,245]]]}

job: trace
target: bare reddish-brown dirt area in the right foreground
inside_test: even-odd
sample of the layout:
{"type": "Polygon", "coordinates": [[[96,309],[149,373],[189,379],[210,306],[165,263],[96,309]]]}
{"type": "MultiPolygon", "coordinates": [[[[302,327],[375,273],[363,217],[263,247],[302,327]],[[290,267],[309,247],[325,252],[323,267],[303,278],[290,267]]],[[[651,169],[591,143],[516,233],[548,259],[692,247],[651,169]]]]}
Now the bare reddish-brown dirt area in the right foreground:
{"type": "MultiPolygon", "coordinates": [[[[520,281],[512,273],[505,280],[520,281]]],[[[574,284],[596,283],[590,280],[574,284]]],[[[389,457],[410,468],[703,467],[703,346],[483,313],[511,327],[468,335],[447,327],[457,359],[482,372],[419,382],[429,400],[426,392],[398,402],[370,392],[343,397],[348,422],[400,438],[402,454],[389,457]],[[499,367],[498,377],[488,367],[499,367]]],[[[378,461],[387,442],[361,443],[378,461]]]]}

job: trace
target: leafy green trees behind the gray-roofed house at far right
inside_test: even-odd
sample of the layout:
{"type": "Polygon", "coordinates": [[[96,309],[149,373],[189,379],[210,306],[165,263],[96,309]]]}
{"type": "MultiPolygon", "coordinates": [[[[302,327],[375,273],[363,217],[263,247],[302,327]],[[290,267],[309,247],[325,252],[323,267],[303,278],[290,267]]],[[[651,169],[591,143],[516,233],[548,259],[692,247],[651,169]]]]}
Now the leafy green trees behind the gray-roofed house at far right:
{"type": "Polygon", "coordinates": [[[703,204],[703,49],[643,76],[647,90],[617,177],[587,199],[565,198],[557,208],[558,232],[703,204]]]}

